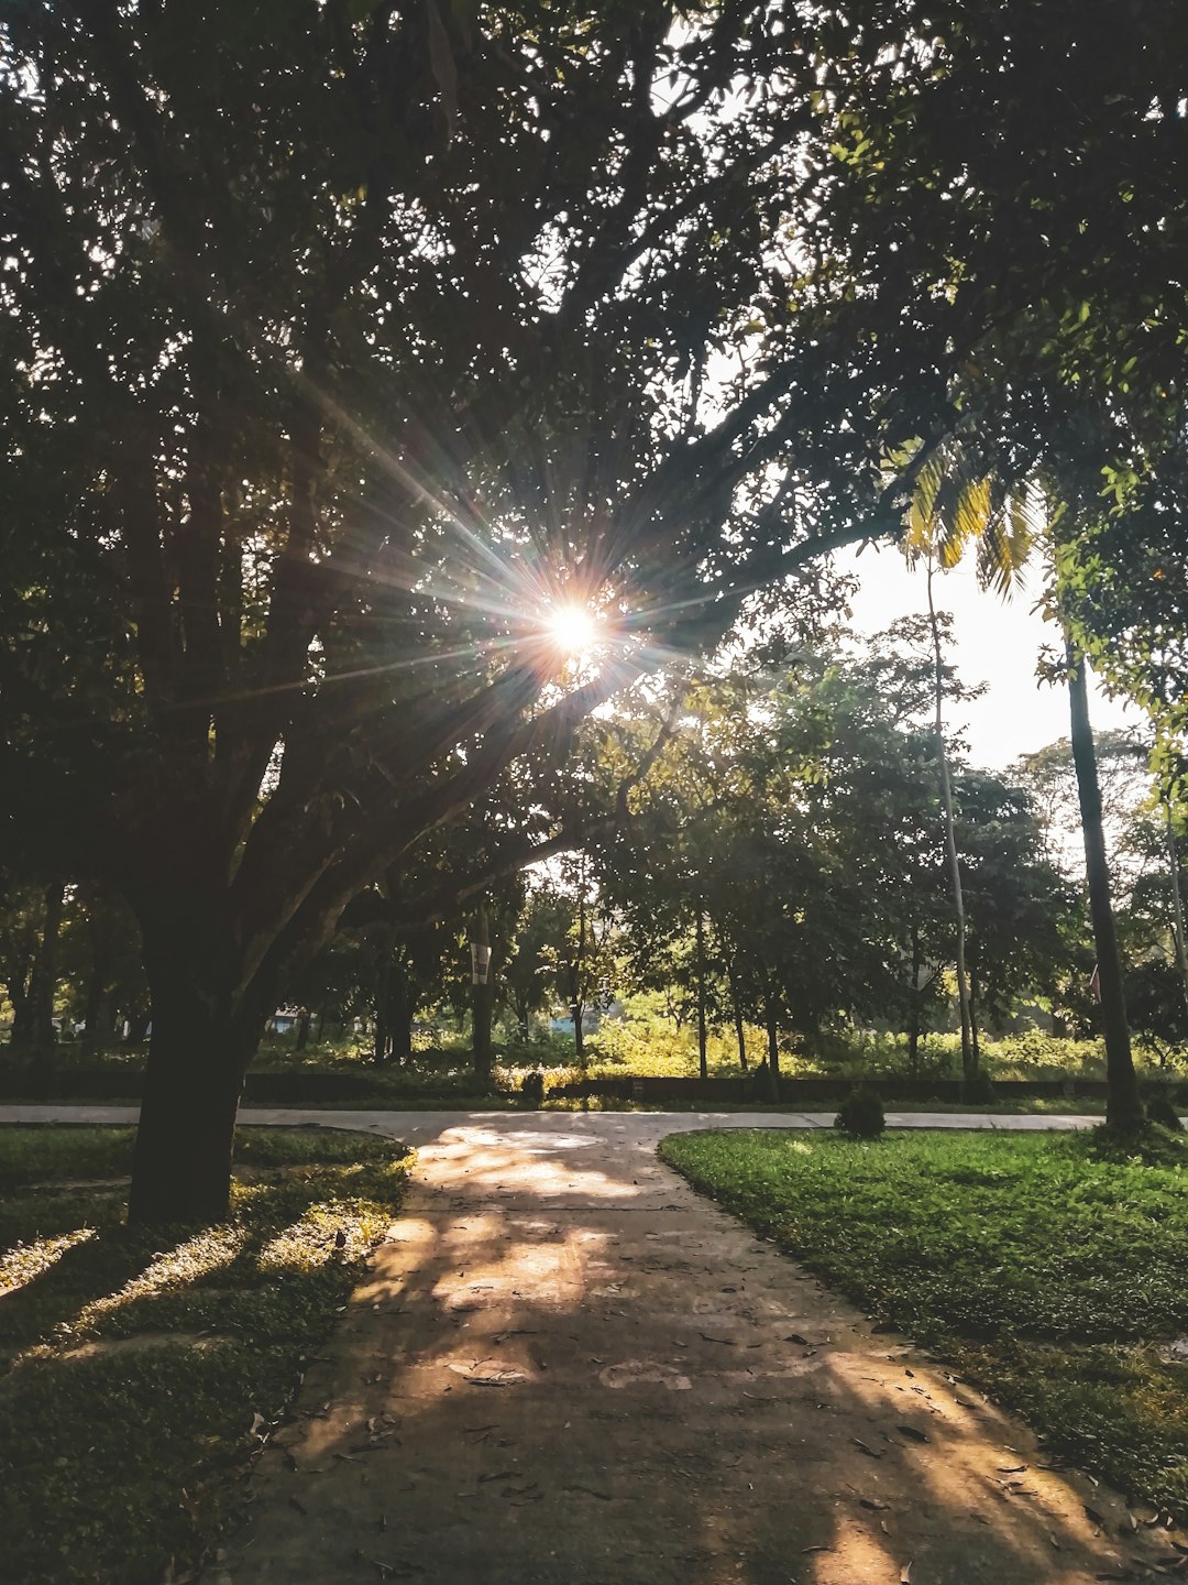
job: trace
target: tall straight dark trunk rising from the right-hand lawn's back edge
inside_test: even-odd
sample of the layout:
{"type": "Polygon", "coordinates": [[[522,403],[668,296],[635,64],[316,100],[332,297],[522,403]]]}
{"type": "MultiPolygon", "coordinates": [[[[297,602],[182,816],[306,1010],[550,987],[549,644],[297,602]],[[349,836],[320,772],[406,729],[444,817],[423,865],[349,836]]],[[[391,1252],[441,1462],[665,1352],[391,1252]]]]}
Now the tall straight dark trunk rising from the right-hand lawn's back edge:
{"type": "Polygon", "coordinates": [[[1072,726],[1072,764],[1077,772],[1080,829],[1085,838],[1085,878],[1088,881],[1093,941],[1098,949],[1098,983],[1101,987],[1101,1029],[1106,1040],[1106,1122],[1115,1129],[1134,1129],[1144,1119],[1139,1079],[1131,1056],[1131,1032],[1126,1022],[1126,1000],[1121,991],[1121,959],[1114,927],[1110,875],[1106,861],[1106,832],[1101,819],[1101,786],[1093,728],[1088,716],[1085,661],[1064,639],[1068,664],[1069,713],[1072,726]]]}

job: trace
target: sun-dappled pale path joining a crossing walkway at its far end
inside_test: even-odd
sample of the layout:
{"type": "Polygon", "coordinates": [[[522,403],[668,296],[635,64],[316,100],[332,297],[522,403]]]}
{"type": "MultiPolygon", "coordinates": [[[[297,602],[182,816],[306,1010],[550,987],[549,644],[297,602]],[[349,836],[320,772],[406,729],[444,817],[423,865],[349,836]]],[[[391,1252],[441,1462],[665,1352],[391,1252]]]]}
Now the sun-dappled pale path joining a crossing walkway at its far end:
{"type": "Polygon", "coordinates": [[[654,1154],[678,1129],[819,1117],[242,1121],[393,1133],[418,1159],[204,1585],[1082,1585],[1166,1560],[1117,1539],[1121,1499],[654,1154]]]}

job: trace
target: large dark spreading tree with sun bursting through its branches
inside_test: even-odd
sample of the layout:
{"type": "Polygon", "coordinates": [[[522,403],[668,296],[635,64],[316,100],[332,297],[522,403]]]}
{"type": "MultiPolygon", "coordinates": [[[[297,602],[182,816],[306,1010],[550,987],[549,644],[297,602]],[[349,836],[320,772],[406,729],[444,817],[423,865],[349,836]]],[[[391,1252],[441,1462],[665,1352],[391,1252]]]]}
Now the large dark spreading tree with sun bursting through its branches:
{"type": "Polygon", "coordinates": [[[1055,227],[1080,290],[1082,155],[1114,181],[1148,86],[1121,52],[1057,128],[1036,8],[966,10],[6,10],[0,840],[138,916],[133,1217],[225,1208],[280,976],[361,888],[751,590],[893,528],[944,371],[1026,306],[954,260],[1028,173],[1058,206],[1028,197],[1011,284],[1055,227]],[[996,101],[1044,133],[1006,184],[996,101]],[[572,599],[608,640],[584,677],[548,639],[572,599]]]}

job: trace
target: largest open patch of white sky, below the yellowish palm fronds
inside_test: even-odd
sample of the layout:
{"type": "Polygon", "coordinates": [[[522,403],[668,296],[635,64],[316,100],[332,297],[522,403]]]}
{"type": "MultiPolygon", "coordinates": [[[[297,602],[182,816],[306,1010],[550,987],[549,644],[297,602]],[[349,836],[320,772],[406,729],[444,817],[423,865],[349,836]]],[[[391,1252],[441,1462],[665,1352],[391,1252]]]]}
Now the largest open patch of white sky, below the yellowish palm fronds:
{"type": "MultiPolygon", "coordinates": [[[[873,634],[900,617],[928,610],[923,567],[909,572],[893,545],[882,550],[871,545],[862,555],[843,553],[835,566],[860,580],[851,604],[855,634],[873,634]]],[[[960,677],[966,683],[988,683],[980,699],[963,707],[973,764],[1001,770],[1019,754],[1068,737],[1068,693],[1036,680],[1041,645],[1060,647],[1060,629],[1031,610],[1039,596],[1039,575],[1003,601],[977,586],[973,558],[966,558],[950,572],[938,574],[933,590],[936,609],[954,615],[957,645],[950,659],[960,677]]],[[[1125,726],[1123,707],[1091,683],[1090,678],[1093,726],[1098,731],[1125,726]]]]}

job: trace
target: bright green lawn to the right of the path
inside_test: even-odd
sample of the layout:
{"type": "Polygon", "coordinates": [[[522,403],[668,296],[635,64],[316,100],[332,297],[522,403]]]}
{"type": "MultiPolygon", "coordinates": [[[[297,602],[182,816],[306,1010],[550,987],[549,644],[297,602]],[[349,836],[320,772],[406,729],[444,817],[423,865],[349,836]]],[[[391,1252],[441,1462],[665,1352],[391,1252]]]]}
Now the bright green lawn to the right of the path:
{"type": "Polygon", "coordinates": [[[702,1133],[662,1157],[1049,1446],[1188,1512],[1188,1148],[1090,1136],[702,1133]]]}

